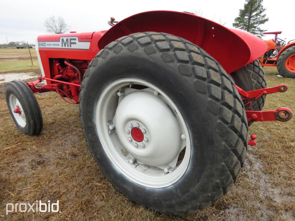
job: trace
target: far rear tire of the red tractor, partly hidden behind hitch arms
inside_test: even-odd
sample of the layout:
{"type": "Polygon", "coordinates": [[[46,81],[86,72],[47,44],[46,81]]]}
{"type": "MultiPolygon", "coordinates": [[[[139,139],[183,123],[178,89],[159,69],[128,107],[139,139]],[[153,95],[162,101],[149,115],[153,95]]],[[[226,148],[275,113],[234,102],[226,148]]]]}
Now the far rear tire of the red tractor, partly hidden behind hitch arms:
{"type": "MultiPolygon", "coordinates": [[[[258,60],[232,72],[231,76],[234,79],[235,84],[245,91],[266,88],[265,73],[258,60]]],[[[256,100],[251,100],[251,103],[245,103],[245,110],[260,111],[264,106],[265,100],[266,95],[263,95],[256,100]]]]}

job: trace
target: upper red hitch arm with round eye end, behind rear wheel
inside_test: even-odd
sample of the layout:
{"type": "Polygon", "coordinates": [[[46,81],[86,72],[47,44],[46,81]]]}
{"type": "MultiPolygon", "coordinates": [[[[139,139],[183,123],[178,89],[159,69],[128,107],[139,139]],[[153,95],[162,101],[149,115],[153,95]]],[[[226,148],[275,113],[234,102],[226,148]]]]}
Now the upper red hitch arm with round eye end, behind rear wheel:
{"type": "Polygon", "coordinates": [[[240,95],[242,95],[242,100],[246,100],[246,99],[250,99],[250,98],[254,98],[254,100],[258,99],[259,97],[261,97],[262,95],[267,95],[267,94],[272,94],[272,93],[277,93],[277,92],[286,92],[288,90],[288,86],[286,84],[280,84],[278,86],[275,87],[271,87],[271,88],[262,88],[262,89],[258,89],[258,90],[251,90],[251,91],[245,91],[242,88],[238,87],[236,85],[236,88],[239,92],[240,95]]]}

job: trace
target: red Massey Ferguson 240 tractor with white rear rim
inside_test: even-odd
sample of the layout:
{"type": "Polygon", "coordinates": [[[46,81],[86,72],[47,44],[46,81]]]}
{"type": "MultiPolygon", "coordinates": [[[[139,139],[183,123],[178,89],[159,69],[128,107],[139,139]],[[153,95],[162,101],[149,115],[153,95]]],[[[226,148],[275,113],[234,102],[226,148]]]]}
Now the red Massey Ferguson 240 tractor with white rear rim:
{"type": "Polygon", "coordinates": [[[34,93],[55,91],[79,104],[91,154],[119,192],[165,214],[210,206],[232,188],[248,144],[256,144],[248,126],[291,118],[284,107],[262,111],[266,95],[288,89],[266,87],[257,60],[266,43],[186,12],[109,24],[37,37],[42,76],[5,88],[17,128],[38,135],[34,93]]]}

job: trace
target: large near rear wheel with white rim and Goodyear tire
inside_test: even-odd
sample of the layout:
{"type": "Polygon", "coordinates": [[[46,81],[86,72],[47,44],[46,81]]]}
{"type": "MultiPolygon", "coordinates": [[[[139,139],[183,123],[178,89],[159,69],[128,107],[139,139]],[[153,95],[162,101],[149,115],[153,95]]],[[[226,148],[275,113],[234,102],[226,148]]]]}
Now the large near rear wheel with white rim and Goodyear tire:
{"type": "Polygon", "coordinates": [[[213,57],[169,34],[111,42],[79,96],[87,145],[129,199],[166,214],[208,207],[239,177],[248,124],[241,97],[213,57]]]}

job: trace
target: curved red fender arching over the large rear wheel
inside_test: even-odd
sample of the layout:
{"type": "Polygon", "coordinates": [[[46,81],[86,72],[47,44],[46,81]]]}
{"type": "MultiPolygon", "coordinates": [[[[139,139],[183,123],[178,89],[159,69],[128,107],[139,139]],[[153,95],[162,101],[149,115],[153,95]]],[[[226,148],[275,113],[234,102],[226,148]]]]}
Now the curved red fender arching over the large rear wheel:
{"type": "Polygon", "coordinates": [[[136,32],[165,32],[189,40],[213,56],[231,73],[266,52],[266,43],[249,32],[226,28],[208,19],[177,11],[148,11],[132,15],[114,25],[99,39],[110,42],[136,32]]]}

